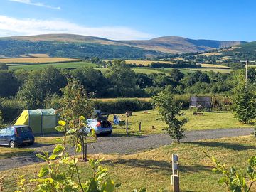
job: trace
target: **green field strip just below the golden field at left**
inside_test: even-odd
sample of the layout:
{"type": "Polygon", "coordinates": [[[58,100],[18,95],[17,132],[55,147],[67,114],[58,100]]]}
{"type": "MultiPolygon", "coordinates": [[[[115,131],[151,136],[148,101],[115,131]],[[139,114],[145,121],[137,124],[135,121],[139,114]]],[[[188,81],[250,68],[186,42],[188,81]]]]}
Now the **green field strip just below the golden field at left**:
{"type": "Polygon", "coordinates": [[[68,62],[68,63],[45,63],[45,64],[28,64],[28,65],[9,65],[9,69],[19,70],[36,70],[41,68],[46,68],[47,66],[52,65],[55,68],[67,69],[67,68],[82,68],[82,67],[97,67],[94,63],[88,62],[68,62]]]}

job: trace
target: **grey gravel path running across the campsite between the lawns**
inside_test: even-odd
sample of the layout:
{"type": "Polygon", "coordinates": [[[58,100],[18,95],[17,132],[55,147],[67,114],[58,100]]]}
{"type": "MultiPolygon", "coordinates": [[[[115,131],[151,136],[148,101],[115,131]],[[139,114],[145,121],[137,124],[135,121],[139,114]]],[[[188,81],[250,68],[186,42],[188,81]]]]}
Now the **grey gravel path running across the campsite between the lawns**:
{"type": "MultiPolygon", "coordinates": [[[[183,142],[193,142],[201,139],[217,139],[221,137],[236,137],[248,135],[252,132],[252,128],[242,129],[212,129],[203,131],[186,132],[186,139],[183,142]]],[[[93,144],[99,154],[132,154],[137,151],[154,149],[159,146],[171,144],[171,137],[168,134],[152,134],[148,136],[133,137],[123,136],[115,137],[99,137],[97,143],[93,144]]],[[[34,144],[33,147],[35,147],[34,144]]],[[[37,151],[52,151],[54,146],[36,146],[37,151]]],[[[88,145],[88,153],[95,153],[92,145],[88,145]]],[[[14,169],[16,167],[35,164],[41,160],[35,156],[36,152],[27,156],[11,157],[10,159],[0,159],[0,171],[14,169]]]]}

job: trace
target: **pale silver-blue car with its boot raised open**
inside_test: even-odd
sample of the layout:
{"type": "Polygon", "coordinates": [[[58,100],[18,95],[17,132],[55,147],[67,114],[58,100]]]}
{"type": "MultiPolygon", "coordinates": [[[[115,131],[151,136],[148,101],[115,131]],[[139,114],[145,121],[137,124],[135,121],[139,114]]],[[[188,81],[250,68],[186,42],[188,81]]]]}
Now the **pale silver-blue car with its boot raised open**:
{"type": "Polygon", "coordinates": [[[90,132],[91,129],[95,130],[95,134],[111,134],[113,127],[112,124],[107,120],[107,113],[98,112],[97,119],[87,119],[87,127],[85,132],[90,132]]]}

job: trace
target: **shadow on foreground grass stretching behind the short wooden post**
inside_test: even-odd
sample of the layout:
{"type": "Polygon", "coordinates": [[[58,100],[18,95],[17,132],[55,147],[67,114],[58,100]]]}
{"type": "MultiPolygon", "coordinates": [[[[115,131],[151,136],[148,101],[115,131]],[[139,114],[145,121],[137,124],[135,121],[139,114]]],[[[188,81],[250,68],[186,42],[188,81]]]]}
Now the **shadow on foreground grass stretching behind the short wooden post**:
{"type": "MultiPolygon", "coordinates": [[[[131,168],[144,168],[148,169],[149,171],[153,172],[162,172],[166,175],[171,175],[171,162],[169,161],[156,161],[151,159],[117,159],[114,161],[102,161],[102,164],[106,164],[108,166],[114,166],[114,165],[124,165],[129,166],[131,168]]],[[[180,171],[183,173],[186,172],[200,172],[200,171],[211,171],[210,166],[202,166],[199,164],[196,164],[195,166],[183,166],[180,165],[180,171]]]]}

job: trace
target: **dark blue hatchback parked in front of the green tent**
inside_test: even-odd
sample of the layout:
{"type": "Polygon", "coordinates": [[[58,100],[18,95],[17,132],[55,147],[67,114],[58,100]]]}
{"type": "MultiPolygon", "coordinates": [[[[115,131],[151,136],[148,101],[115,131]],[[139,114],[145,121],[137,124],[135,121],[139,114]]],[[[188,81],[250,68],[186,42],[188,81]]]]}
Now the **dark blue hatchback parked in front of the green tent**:
{"type": "Polygon", "coordinates": [[[27,125],[14,125],[0,129],[0,145],[7,145],[14,148],[21,144],[33,144],[35,137],[27,125]]]}

